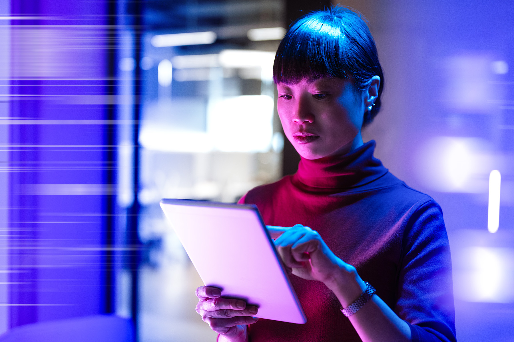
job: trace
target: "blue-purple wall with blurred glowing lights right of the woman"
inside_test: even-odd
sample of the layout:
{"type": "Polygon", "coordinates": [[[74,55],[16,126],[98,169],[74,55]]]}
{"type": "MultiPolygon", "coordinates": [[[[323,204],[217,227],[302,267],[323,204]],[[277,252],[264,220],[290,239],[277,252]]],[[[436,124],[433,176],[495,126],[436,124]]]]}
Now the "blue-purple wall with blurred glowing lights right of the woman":
{"type": "Polygon", "coordinates": [[[514,333],[512,59],[506,1],[346,0],[369,20],[386,78],[383,110],[363,132],[375,155],[442,206],[453,260],[457,339],[514,333]],[[510,70],[509,70],[510,69],[510,70]],[[489,173],[501,173],[488,232],[489,173]]]}

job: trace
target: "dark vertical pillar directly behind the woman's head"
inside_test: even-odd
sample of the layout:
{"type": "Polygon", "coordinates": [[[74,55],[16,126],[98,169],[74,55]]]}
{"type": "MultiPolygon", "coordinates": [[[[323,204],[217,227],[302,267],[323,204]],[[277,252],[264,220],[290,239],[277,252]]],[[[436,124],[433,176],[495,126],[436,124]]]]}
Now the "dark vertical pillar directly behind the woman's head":
{"type": "MultiPolygon", "coordinates": [[[[286,27],[296,22],[298,18],[310,11],[324,9],[331,6],[329,0],[286,0],[286,27]]],[[[298,170],[300,155],[287,138],[284,139],[284,151],[282,158],[282,174],[293,174],[298,170]]]]}

